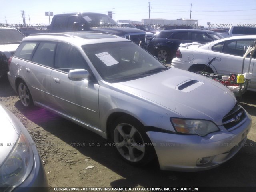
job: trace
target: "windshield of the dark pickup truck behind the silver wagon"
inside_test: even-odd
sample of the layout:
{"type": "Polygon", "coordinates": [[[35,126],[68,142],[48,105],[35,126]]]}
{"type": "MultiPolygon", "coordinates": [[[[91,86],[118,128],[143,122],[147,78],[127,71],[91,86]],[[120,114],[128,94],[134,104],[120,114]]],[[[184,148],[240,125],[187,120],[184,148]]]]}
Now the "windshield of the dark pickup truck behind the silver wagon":
{"type": "Polygon", "coordinates": [[[104,14],[84,13],[83,18],[91,25],[91,27],[103,27],[105,25],[118,26],[117,22],[104,14]]]}

